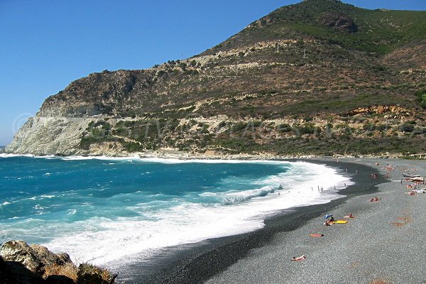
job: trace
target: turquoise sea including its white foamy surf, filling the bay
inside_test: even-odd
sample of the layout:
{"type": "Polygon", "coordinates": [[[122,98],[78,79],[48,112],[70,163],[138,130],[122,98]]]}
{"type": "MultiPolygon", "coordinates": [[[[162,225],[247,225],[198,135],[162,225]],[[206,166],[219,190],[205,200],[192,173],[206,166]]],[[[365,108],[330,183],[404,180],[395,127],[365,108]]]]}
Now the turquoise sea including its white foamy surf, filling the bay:
{"type": "Polygon", "coordinates": [[[261,229],[280,210],[339,198],[344,183],[337,170],[304,162],[0,154],[0,235],[77,262],[149,260],[261,229]]]}

